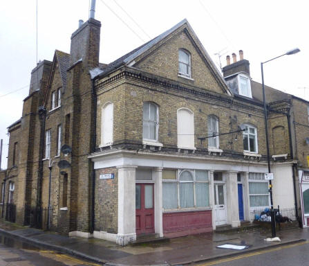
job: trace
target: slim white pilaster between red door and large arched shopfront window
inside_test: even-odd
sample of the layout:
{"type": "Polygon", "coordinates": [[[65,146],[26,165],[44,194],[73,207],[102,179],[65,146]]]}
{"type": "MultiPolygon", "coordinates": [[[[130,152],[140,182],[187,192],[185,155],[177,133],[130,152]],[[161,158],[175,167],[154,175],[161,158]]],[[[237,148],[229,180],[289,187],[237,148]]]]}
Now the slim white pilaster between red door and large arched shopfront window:
{"type": "Polygon", "coordinates": [[[154,172],[154,207],[155,207],[155,233],[158,233],[160,237],[163,236],[163,220],[162,220],[162,169],[163,168],[155,168],[154,172]]]}

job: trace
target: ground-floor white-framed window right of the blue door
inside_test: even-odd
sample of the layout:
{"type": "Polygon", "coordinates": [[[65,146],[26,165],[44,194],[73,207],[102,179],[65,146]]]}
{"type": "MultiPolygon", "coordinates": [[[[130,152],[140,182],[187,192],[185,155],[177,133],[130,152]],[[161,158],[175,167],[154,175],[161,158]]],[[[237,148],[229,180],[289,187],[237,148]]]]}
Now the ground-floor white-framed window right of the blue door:
{"type": "Polygon", "coordinates": [[[249,198],[250,207],[263,208],[270,206],[268,181],[265,180],[263,172],[249,173],[249,198]]]}

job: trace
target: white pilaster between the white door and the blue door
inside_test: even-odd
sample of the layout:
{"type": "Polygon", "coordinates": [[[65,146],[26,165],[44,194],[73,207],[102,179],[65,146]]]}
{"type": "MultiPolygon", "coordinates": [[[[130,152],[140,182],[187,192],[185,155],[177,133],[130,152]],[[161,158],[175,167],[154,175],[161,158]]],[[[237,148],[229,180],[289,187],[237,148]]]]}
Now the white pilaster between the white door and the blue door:
{"type": "Polygon", "coordinates": [[[232,227],[239,227],[238,211],[238,188],[237,188],[237,172],[226,172],[226,190],[227,190],[227,224],[232,227]]]}

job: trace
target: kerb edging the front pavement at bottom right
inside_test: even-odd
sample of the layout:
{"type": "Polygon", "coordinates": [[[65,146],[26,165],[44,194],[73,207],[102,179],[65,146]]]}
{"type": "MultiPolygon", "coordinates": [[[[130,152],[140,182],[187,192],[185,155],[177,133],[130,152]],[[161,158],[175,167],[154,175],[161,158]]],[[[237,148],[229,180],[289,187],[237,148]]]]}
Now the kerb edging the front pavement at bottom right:
{"type": "Polygon", "coordinates": [[[294,239],[294,240],[289,240],[286,242],[280,242],[268,247],[255,247],[252,249],[243,249],[243,251],[238,251],[238,252],[230,252],[224,255],[217,255],[217,256],[212,256],[211,258],[200,258],[200,259],[196,259],[196,260],[188,260],[188,261],[184,261],[182,263],[171,263],[170,265],[174,266],[174,265],[186,265],[186,264],[191,264],[191,263],[203,263],[203,262],[207,262],[207,261],[211,261],[211,260],[217,260],[218,258],[220,259],[224,259],[224,258],[232,258],[234,256],[238,256],[238,255],[242,255],[242,254],[247,254],[250,252],[254,252],[254,251],[261,251],[261,250],[267,250],[267,249],[271,249],[273,247],[281,247],[281,246],[286,246],[286,245],[291,245],[294,243],[298,243],[298,242],[306,242],[306,239],[294,239]]]}

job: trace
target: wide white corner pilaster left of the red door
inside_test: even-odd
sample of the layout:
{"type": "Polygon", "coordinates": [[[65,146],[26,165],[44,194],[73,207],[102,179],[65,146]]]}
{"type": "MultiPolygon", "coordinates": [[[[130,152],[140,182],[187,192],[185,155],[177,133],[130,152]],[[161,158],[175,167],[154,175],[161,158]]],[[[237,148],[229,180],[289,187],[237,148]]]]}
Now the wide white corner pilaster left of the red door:
{"type": "Polygon", "coordinates": [[[136,240],[135,232],[135,168],[118,166],[118,245],[136,240]]]}

